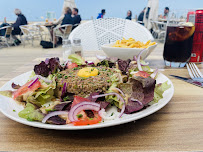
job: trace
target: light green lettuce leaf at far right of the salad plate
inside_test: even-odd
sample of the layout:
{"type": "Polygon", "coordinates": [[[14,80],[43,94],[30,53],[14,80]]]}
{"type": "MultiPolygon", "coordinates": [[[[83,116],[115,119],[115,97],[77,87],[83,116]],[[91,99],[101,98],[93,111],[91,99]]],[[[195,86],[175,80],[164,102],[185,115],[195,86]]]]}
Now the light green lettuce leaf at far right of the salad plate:
{"type": "Polygon", "coordinates": [[[171,87],[171,84],[168,84],[168,81],[160,84],[156,84],[154,90],[154,99],[153,102],[157,103],[160,99],[163,98],[163,93],[171,87]]]}

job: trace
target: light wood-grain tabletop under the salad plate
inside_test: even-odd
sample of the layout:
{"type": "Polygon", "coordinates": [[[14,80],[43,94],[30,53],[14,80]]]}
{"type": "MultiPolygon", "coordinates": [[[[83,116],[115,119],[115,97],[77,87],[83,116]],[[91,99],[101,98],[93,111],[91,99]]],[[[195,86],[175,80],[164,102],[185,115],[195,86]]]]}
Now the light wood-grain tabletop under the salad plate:
{"type": "MultiPolygon", "coordinates": [[[[172,100],[158,112],[120,126],[80,131],[39,129],[10,120],[0,113],[0,151],[198,151],[203,150],[203,89],[177,80],[170,74],[189,77],[186,68],[166,68],[161,49],[148,58],[151,67],[175,87],[172,100]]],[[[88,53],[86,53],[88,55],[88,53]]],[[[0,78],[0,85],[32,70],[49,53],[0,78]]],[[[203,64],[198,64],[203,72],[203,64]]]]}

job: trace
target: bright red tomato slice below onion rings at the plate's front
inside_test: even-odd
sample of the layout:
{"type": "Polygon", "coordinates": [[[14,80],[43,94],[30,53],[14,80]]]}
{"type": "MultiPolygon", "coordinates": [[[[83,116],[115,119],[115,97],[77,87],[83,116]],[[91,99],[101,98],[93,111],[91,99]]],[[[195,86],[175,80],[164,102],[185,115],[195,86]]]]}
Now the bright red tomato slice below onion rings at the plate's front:
{"type": "Polygon", "coordinates": [[[94,118],[81,118],[78,121],[73,122],[74,126],[84,126],[84,125],[93,125],[102,121],[102,118],[97,112],[94,112],[94,118]]]}

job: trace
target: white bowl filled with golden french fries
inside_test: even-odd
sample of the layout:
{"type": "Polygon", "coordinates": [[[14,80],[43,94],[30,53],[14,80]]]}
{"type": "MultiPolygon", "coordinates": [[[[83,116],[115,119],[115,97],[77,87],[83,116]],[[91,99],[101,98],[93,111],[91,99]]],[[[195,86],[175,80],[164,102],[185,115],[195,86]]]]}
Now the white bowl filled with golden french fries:
{"type": "Polygon", "coordinates": [[[145,51],[142,53],[141,57],[142,59],[146,59],[156,46],[157,43],[151,42],[150,40],[143,43],[136,41],[133,38],[123,38],[122,40],[117,40],[111,44],[104,44],[101,48],[108,57],[118,57],[126,60],[135,55],[137,56],[143,49],[145,49],[145,51]]]}

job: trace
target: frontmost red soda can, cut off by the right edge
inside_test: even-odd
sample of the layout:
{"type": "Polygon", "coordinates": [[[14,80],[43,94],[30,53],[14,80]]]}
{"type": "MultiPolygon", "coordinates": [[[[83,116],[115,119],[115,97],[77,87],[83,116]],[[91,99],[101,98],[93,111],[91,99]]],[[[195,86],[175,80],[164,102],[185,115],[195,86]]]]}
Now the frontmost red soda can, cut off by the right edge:
{"type": "Polygon", "coordinates": [[[190,62],[203,62],[203,9],[196,10],[195,34],[190,62]]]}

